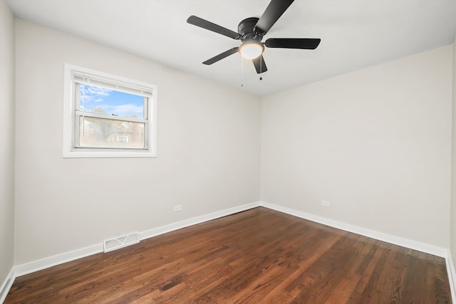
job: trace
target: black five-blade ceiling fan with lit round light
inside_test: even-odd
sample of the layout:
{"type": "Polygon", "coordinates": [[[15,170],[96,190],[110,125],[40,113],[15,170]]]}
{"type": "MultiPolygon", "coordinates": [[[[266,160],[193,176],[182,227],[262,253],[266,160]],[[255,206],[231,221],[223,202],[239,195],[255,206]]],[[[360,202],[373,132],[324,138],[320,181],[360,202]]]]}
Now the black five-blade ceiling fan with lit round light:
{"type": "Polygon", "coordinates": [[[264,43],[261,42],[263,36],[266,35],[269,29],[276,23],[280,16],[284,14],[293,1],[294,0],[271,0],[261,18],[251,17],[242,20],[237,27],[237,32],[197,16],[190,16],[187,19],[187,23],[242,41],[241,46],[230,48],[228,51],[224,51],[223,53],[204,61],[203,64],[211,65],[212,63],[216,63],[223,58],[239,52],[242,57],[252,59],[257,73],[260,74],[267,70],[263,58],[264,46],[266,46],[266,48],[316,49],[318,44],[320,44],[320,38],[269,38],[264,41],[264,43]]]}

